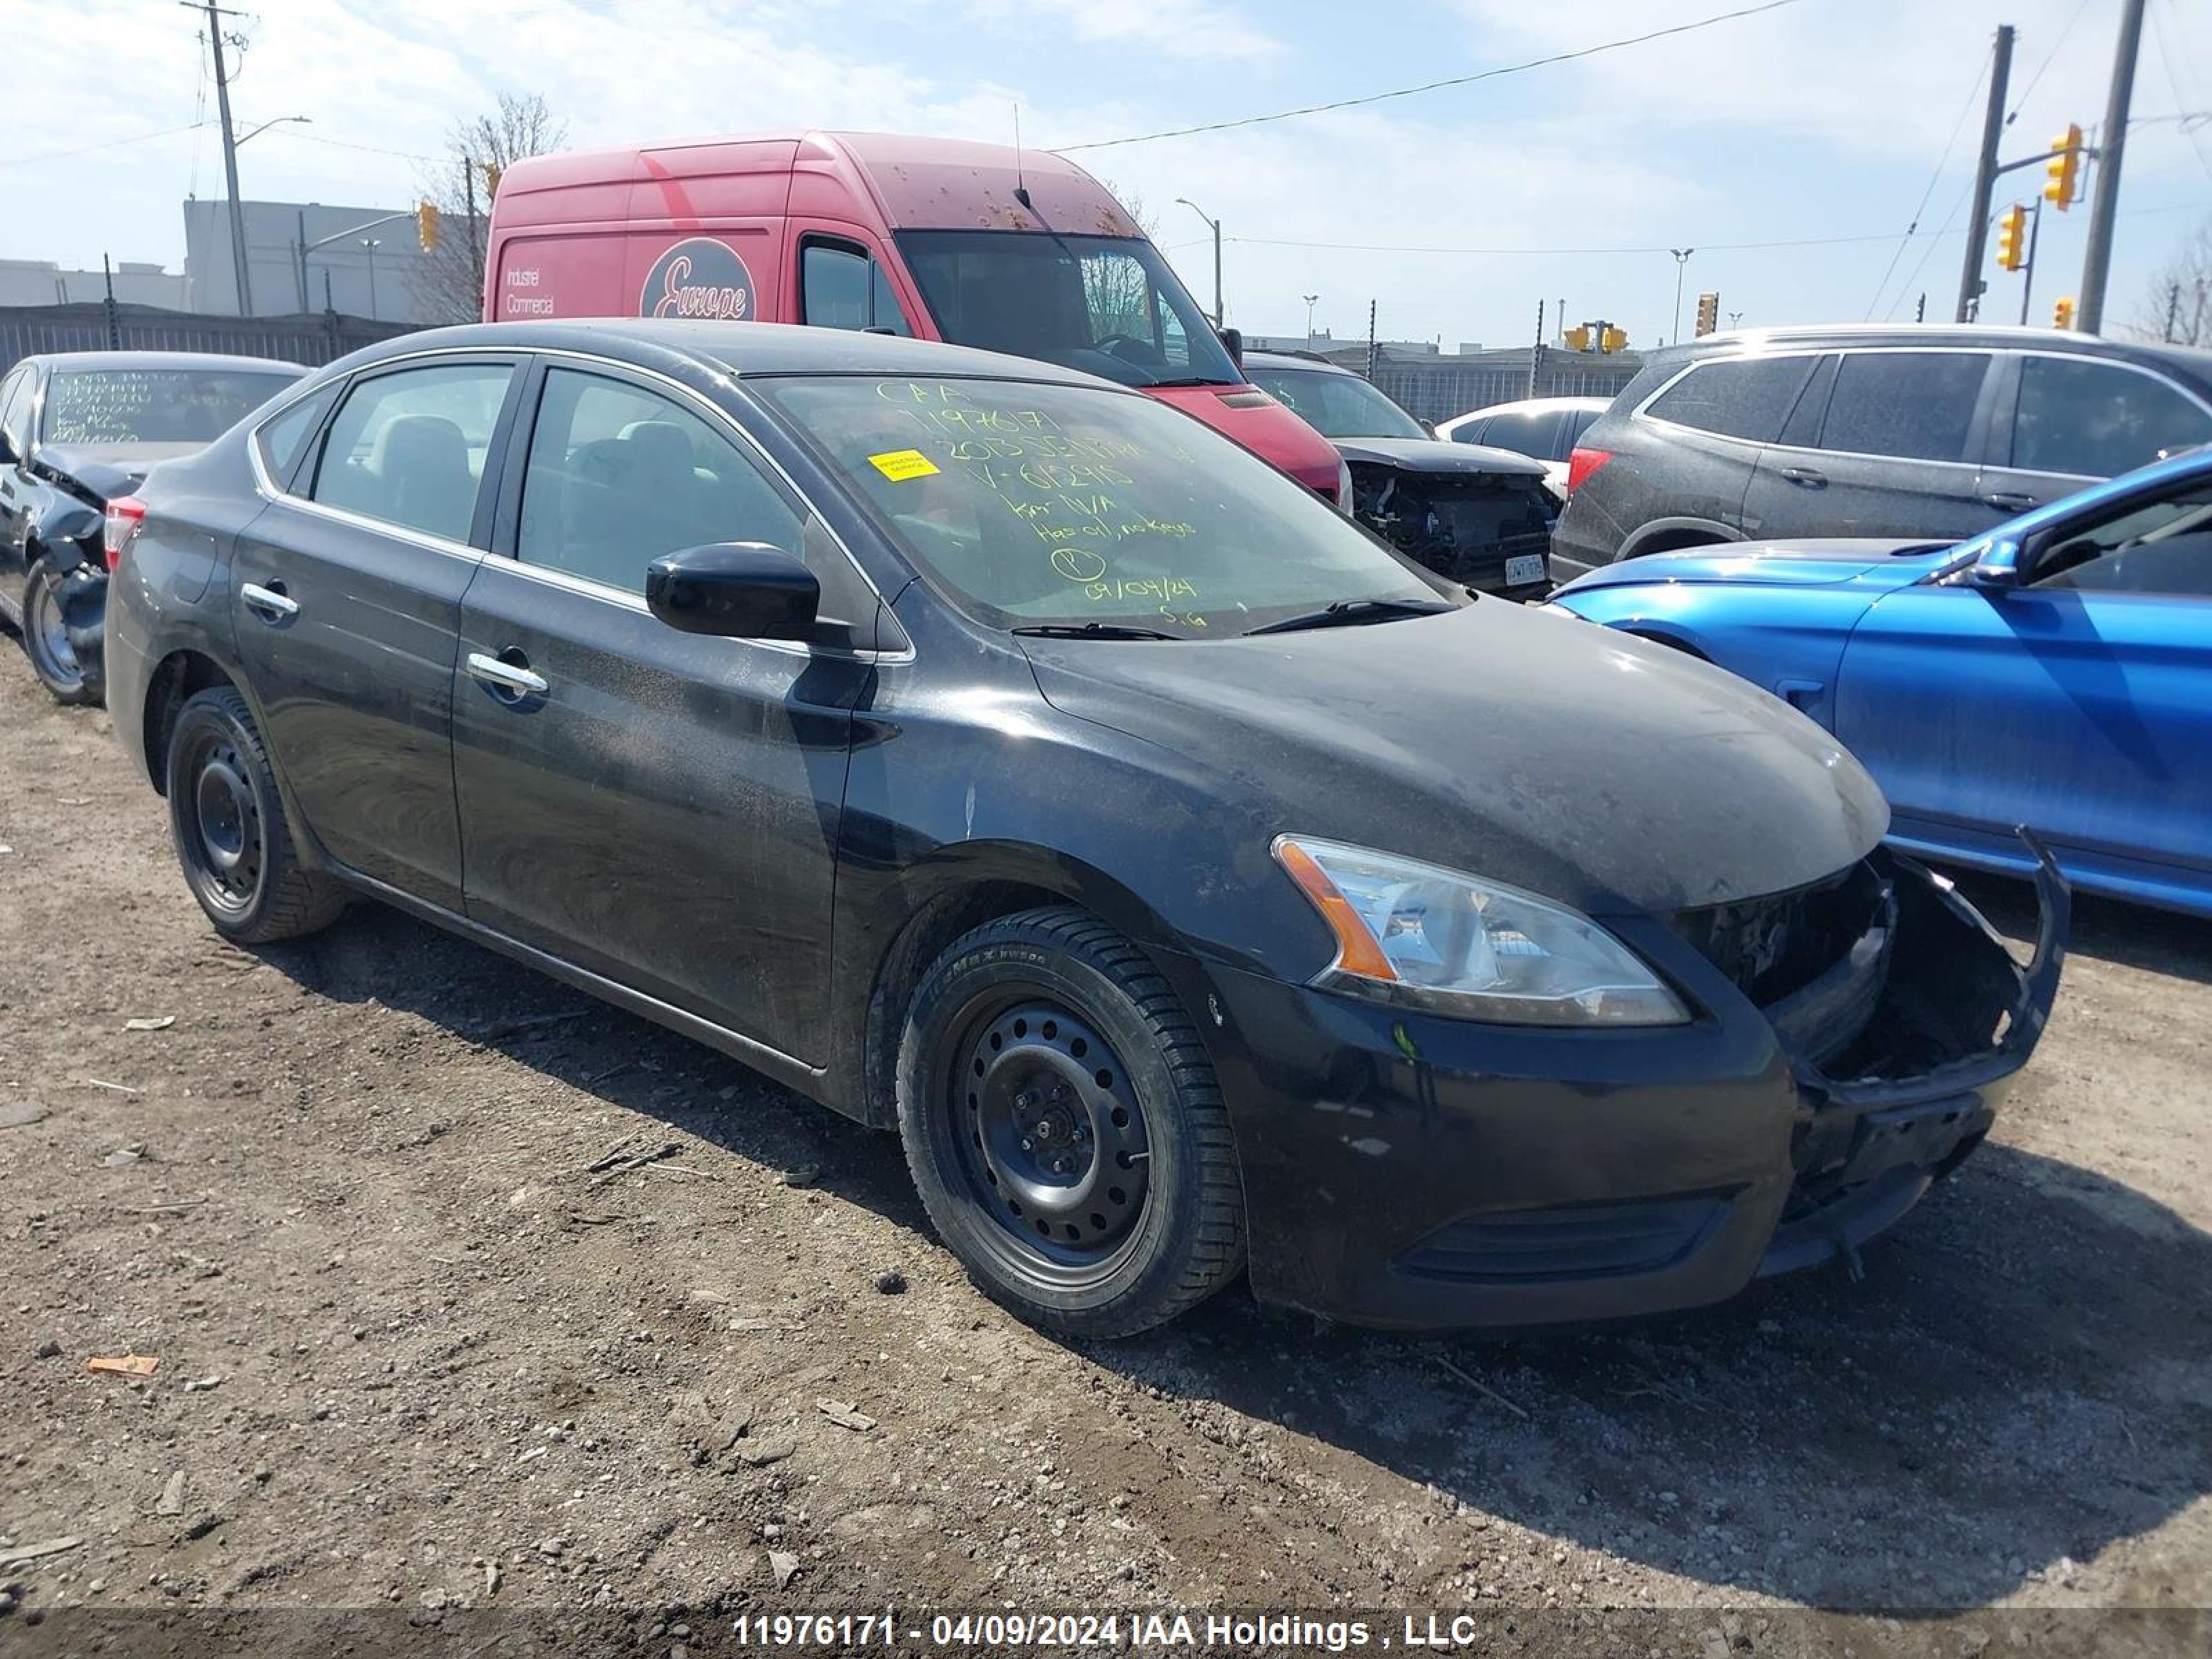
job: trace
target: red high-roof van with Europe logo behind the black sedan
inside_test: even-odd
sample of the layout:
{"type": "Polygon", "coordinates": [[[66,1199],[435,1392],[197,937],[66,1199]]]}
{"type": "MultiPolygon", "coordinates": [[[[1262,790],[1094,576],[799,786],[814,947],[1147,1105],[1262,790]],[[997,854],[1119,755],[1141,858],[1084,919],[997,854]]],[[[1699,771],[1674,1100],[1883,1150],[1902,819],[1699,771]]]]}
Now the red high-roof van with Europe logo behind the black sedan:
{"type": "Polygon", "coordinates": [[[515,161],[484,321],[529,316],[816,323],[1042,358],[1349,502],[1336,449],[1245,380],[1237,334],[1208,325],[1106,186],[1042,150],[794,133],[515,161]]]}

